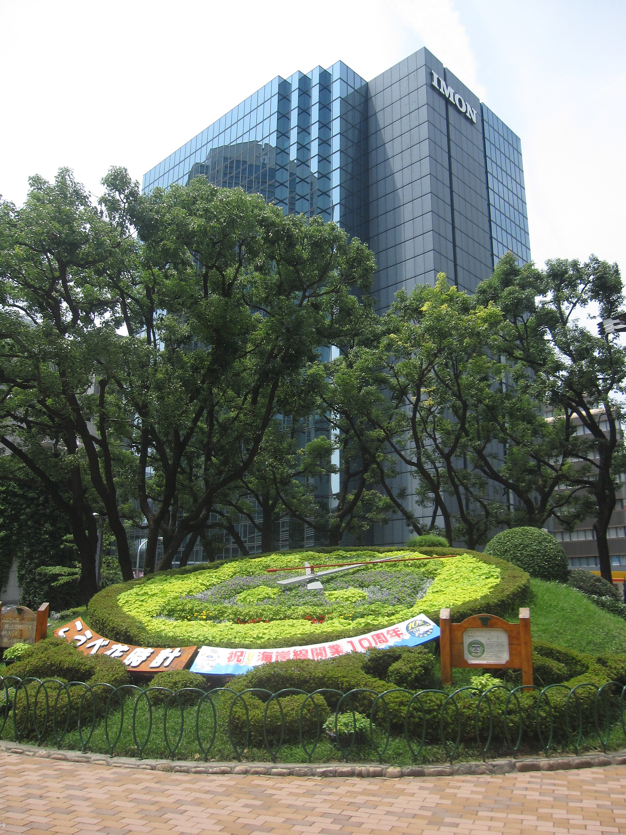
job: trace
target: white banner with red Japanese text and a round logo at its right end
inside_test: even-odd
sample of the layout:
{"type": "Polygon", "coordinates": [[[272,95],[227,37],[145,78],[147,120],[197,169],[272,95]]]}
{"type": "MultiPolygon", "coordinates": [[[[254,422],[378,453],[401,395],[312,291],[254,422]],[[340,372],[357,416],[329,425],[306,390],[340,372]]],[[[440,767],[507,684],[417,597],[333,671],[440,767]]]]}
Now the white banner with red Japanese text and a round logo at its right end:
{"type": "MultiPolygon", "coordinates": [[[[488,630],[487,630],[488,631],[488,630]]],[[[280,650],[226,650],[219,646],[201,646],[191,666],[193,673],[211,676],[241,675],[260,664],[300,658],[319,660],[336,658],[351,652],[367,652],[376,647],[416,646],[439,637],[439,627],[426,615],[416,615],[395,626],[386,626],[356,638],[341,638],[324,644],[289,646],[280,650]]]]}

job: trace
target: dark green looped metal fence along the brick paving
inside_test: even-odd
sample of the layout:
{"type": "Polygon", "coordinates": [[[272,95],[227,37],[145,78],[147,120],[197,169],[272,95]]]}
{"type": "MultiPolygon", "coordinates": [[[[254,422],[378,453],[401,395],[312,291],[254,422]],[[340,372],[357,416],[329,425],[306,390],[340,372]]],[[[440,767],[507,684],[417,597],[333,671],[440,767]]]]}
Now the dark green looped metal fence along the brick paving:
{"type": "Polygon", "coordinates": [[[454,762],[608,751],[626,686],[202,690],[0,676],[0,738],[110,756],[454,762]]]}

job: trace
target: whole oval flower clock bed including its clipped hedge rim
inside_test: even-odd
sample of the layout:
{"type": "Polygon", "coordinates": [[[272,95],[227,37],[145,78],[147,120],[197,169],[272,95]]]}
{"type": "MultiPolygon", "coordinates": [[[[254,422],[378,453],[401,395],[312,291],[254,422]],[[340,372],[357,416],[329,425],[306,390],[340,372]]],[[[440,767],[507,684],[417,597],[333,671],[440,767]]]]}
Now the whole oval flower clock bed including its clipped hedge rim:
{"type": "Polygon", "coordinates": [[[270,648],[362,635],[424,613],[453,620],[504,615],[528,599],[528,574],[476,551],[452,559],[368,565],[336,574],[324,589],[285,587],[268,568],[348,563],[396,555],[444,556],[450,549],[317,549],[163,572],[109,586],[89,603],[93,630],[134,644],[270,648]]]}

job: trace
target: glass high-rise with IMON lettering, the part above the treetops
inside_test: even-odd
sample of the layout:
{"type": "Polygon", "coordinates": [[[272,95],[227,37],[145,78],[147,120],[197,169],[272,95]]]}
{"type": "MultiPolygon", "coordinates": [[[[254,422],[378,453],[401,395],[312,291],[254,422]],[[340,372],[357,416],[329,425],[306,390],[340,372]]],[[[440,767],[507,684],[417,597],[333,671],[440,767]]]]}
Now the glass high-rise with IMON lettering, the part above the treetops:
{"type": "MultiPolygon", "coordinates": [[[[370,82],[341,62],[274,78],[149,170],[143,190],[199,175],[366,242],[380,310],[439,272],[472,292],[505,252],[530,260],[520,140],[427,49],[370,82]]],[[[375,538],[406,534],[396,520],[375,538]]]]}

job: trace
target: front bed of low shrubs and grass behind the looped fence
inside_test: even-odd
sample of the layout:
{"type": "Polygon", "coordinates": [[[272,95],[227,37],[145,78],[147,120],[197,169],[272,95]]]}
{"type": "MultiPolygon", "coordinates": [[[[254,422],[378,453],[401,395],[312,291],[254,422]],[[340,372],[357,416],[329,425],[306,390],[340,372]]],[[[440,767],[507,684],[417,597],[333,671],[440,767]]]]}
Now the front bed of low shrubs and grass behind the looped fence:
{"type": "Polygon", "coordinates": [[[509,693],[517,681],[502,682],[480,670],[462,671],[465,681],[442,687],[433,675],[432,651],[423,647],[275,662],[214,691],[206,691],[189,672],[165,672],[143,691],[124,681],[119,662],[101,665],[93,674],[78,650],[59,644],[48,642],[41,657],[29,656],[22,673],[41,672],[45,654],[58,656],[60,681],[40,686],[36,681],[20,685],[12,676],[0,680],[4,739],[74,750],[83,746],[114,756],[279,762],[380,757],[398,764],[475,760],[483,753],[510,756],[513,748],[522,756],[624,744],[619,697],[626,684],[626,656],[583,655],[536,642],[538,689],[530,692],[509,693]],[[63,689],[61,681],[76,674],[81,681],[89,677],[83,685],[63,689]],[[106,681],[98,676],[110,674],[117,689],[102,691],[110,693],[104,699],[93,691],[93,699],[89,683],[97,686],[106,681]],[[543,686],[549,689],[540,692],[543,686]],[[48,697],[39,691],[35,721],[40,687],[48,697]]]}

